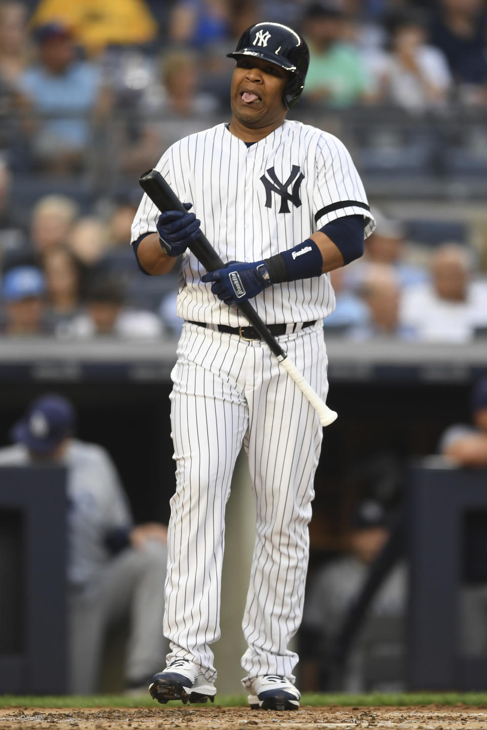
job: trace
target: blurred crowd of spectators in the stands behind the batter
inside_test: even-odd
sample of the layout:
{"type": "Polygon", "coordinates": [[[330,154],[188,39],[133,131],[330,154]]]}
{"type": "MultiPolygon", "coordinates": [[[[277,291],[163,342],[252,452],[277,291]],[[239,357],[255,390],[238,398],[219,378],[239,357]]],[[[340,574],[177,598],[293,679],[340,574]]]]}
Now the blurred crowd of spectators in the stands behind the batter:
{"type": "MultiPolygon", "coordinates": [[[[177,275],[149,280],[129,247],[137,178],[176,139],[227,118],[225,54],[261,18],[289,23],[307,39],[298,116],[330,123],[339,136],[342,115],[353,110],[447,120],[452,110],[476,113],[487,104],[483,0],[93,7],[91,0],[0,3],[2,335],[178,333],[177,275]]],[[[403,150],[409,158],[421,149],[420,132],[413,151],[403,150]]],[[[469,144],[477,160],[486,158],[478,129],[469,144]]],[[[367,155],[357,161],[367,187],[367,155]]],[[[326,331],[451,342],[484,334],[486,242],[472,247],[468,233],[445,231],[425,246],[407,221],[387,210],[377,218],[364,258],[331,274],[337,310],[326,331]]]]}

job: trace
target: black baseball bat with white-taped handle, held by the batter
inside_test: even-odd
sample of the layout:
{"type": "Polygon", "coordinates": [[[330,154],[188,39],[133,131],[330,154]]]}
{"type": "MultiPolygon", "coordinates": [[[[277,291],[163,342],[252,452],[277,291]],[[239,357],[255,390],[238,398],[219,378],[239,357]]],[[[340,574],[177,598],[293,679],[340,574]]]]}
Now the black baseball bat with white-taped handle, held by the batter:
{"type": "MultiPolygon", "coordinates": [[[[156,205],[158,210],[179,210],[182,213],[188,211],[183,206],[183,203],[177,197],[172,188],[166,183],[164,177],[157,170],[148,170],[139,177],[139,184],[142,190],[147,194],[153,204],[156,205]]],[[[191,253],[193,253],[198,261],[203,264],[204,268],[208,272],[215,271],[215,269],[223,269],[226,264],[223,263],[218,253],[210,244],[210,241],[201,232],[196,240],[189,245],[191,253]]],[[[256,310],[254,310],[252,304],[249,301],[236,302],[240,312],[248,319],[250,324],[256,329],[261,339],[269,345],[272,352],[275,354],[277,360],[288,372],[289,377],[294,380],[294,383],[298,386],[299,390],[302,391],[305,398],[310,401],[310,404],[318,412],[320,423],[322,426],[329,426],[337,418],[337,413],[331,410],[326,403],[318,396],[311,385],[304,380],[303,375],[294,366],[293,363],[288,359],[287,354],[282,347],[278,344],[275,337],[269,332],[266,324],[258,316],[256,310]]]]}

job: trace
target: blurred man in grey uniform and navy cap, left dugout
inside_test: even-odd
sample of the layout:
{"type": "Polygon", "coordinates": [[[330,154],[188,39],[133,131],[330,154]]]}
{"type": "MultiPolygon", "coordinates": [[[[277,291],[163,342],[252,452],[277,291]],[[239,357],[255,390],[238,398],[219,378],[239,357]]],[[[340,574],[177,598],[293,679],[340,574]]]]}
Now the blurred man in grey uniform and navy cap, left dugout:
{"type": "Polygon", "coordinates": [[[107,628],[124,616],[131,623],[127,684],[146,690],[166,648],[166,528],[134,527],[112,459],[103,447],[74,438],[74,422],[69,401],[39,397],[13,426],[15,445],[0,449],[0,466],[67,468],[69,691],[96,691],[107,628]]]}

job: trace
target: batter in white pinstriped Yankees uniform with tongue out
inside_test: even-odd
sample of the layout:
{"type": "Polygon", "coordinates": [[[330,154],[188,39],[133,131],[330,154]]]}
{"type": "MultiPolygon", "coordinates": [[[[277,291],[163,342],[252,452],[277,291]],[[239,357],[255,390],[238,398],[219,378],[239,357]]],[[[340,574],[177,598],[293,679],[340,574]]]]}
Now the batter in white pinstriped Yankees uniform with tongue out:
{"type": "Polygon", "coordinates": [[[286,120],[304,87],[304,40],[280,23],[258,23],[229,57],[237,61],[231,122],[181,139],[156,166],[194,213],[159,215],[143,196],[132,226],[145,272],[165,274],[182,256],[164,612],[171,650],[150,694],[162,703],[215,696],[210,645],[220,636],[225,505],[243,445],[257,529],[242,683],[252,707],[295,710],[298,656],[288,642],[302,619],[321,426],[236,301],[250,299],[324,399],[322,319],[334,310],[327,272],[363,253],[375,223],[342,143],[286,120]],[[229,262],[223,269],[205,272],[187,250],[200,228],[229,262]]]}

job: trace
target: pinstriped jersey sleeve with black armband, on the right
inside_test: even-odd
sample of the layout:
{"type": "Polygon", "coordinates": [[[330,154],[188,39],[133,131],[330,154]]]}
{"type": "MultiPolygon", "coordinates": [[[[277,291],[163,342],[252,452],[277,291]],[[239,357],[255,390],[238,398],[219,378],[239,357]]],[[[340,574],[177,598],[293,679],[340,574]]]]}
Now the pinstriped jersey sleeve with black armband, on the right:
{"type": "Polygon", "coordinates": [[[316,148],[312,208],[317,229],[337,218],[362,215],[364,238],[374,231],[374,216],[350,153],[340,139],[331,134],[323,135],[316,148]]]}

